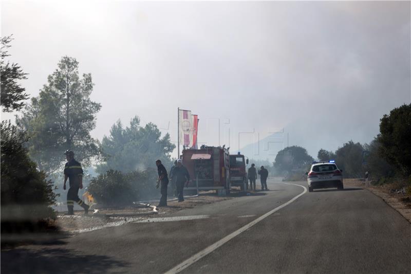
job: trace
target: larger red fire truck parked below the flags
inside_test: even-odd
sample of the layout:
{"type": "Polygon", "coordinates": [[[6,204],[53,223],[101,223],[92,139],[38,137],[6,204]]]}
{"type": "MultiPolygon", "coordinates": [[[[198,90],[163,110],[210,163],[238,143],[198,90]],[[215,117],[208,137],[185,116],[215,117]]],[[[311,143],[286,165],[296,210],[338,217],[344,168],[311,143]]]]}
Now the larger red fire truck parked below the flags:
{"type": "Polygon", "coordinates": [[[230,190],[230,155],[226,148],[207,147],[184,149],[182,163],[190,173],[186,190],[230,190]]]}

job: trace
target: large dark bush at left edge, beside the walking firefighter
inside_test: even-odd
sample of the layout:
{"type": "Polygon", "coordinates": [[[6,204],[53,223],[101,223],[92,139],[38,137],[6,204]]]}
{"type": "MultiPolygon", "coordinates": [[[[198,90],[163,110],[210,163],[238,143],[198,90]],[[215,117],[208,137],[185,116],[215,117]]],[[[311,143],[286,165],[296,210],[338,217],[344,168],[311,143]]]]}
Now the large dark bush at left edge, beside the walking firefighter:
{"type": "Polygon", "coordinates": [[[53,183],[38,171],[23,144],[25,135],[17,133],[9,121],[1,124],[1,222],[2,232],[33,230],[46,218],[55,218],[50,207],[55,202],[53,183]]]}

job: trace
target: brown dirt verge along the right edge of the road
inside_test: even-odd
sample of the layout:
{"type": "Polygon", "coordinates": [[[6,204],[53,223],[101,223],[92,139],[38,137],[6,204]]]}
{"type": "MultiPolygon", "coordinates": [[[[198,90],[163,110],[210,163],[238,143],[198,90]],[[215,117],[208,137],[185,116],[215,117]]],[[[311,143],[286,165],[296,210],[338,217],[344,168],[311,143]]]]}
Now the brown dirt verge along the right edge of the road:
{"type": "Polygon", "coordinates": [[[397,193],[393,184],[383,186],[365,185],[364,180],[344,179],[344,187],[361,187],[382,198],[389,206],[403,215],[411,223],[411,197],[405,193],[397,193]]]}

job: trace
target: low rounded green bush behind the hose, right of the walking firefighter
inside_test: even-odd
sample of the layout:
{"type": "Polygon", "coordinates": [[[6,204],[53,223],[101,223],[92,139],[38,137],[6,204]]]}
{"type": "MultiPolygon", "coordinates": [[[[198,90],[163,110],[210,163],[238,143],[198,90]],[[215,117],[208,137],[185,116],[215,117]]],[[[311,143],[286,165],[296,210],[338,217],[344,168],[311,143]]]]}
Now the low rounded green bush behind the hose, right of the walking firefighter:
{"type": "Polygon", "coordinates": [[[92,178],[88,191],[104,207],[124,207],[139,199],[157,196],[159,191],[155,188],[156,180],[155,169],[130,173],[111,169],[92,178]]]}

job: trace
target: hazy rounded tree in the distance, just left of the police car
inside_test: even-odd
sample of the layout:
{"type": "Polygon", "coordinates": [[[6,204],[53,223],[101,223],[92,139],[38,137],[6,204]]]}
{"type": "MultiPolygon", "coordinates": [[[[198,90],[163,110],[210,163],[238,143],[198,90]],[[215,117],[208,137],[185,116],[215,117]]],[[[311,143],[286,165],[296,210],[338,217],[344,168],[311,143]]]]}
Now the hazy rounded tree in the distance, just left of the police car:
{"type": "Polygon", "coordinates": [[[293,169],[307,169],[314,159],[308,155],[307,150],[293,145],[277,153],[274,160],[274,168],[277,172],[290,172],[293,169]]]}

